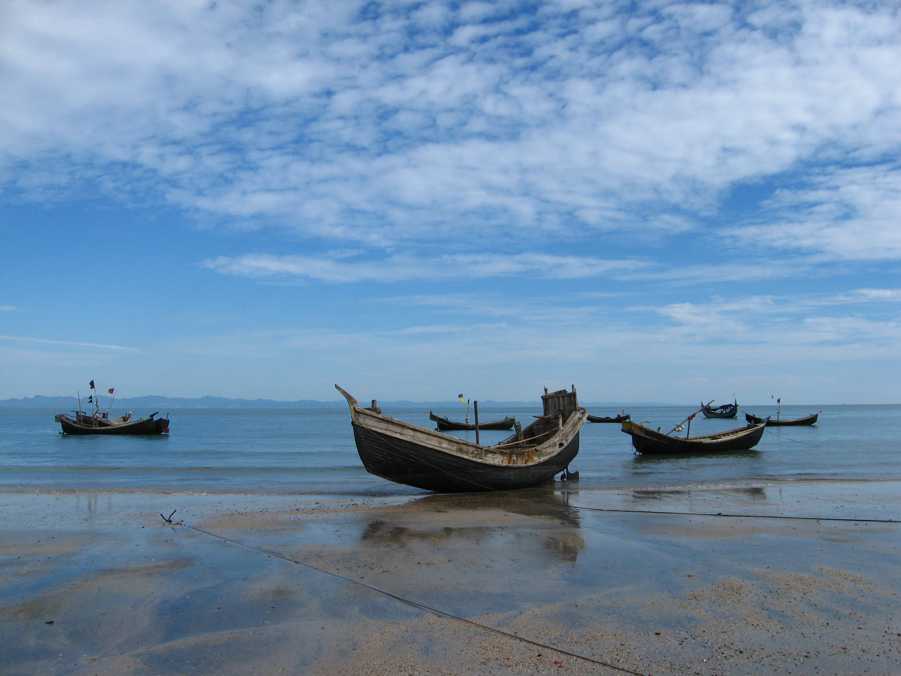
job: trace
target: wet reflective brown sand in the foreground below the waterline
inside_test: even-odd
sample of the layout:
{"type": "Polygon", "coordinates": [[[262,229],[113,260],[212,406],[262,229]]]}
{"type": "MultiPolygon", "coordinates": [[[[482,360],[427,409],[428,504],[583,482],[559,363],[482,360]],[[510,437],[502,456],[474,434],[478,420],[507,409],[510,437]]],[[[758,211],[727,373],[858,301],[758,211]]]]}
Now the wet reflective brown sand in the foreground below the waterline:
{"type": "Polygon", "coordinates": [[[897,519],[899,488],[4,493],[0,673],[621,673],[359,582],[655,676],[898,674],[901,524],[577,507],[897,519]]]}

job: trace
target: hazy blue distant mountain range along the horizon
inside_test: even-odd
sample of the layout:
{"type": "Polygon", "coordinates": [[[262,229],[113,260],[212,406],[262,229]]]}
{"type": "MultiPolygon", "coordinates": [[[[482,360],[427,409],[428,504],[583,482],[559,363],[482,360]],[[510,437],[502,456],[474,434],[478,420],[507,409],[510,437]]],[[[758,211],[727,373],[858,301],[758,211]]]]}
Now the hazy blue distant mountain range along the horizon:
{"type": "MultiPolygon", "coordinates": [[[[369,402],[366,402],[368,405],[369,402]]],[[[480,401],[479,407],[483,408],[509,408],[509,407],[541,407],[540,401],[480,401]]],[[[78,406],[76,397],[23,397],[22,399],[2,399],[0,408],[38,408],[54,411],[70,411],[78,406]]],[[[87,407],[87,397],[81,397],[81,406],[87,407]]],[[[100,397],[100,407],[109,406],[108,397],[100,397]]],[[[228,399],[225,397],[199,397],[188,399],[184,397],[131,397],[115,400],[116,409],[125,408],[132,411],[142,411],[145,408],[160,408],[166,411],[174,411],[178,408],[338,408],[346,407],[343,399],[334,401],[316,401],[315,399],[298,399],[297,401],[275,401],[273,399],[228,399]]],[[[457,401],[379,401],[378,406],[386,408],[447,408],[459,407],[457,401]]],[[[654,401],[622,402],[603,401],[584,403],[586,407],[653,407],[653,406],[678,406],[676,404],[662,404],[654,401]]]]}

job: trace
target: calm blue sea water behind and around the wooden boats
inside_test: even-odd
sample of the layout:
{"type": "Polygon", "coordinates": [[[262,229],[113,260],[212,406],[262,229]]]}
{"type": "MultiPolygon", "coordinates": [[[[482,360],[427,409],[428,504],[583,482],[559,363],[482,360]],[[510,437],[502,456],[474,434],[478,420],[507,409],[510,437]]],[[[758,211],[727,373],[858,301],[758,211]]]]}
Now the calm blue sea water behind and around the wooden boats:
{"type": "MultiPolygon", "coordinates": [[[[783,407],[799,417],[820,407],[783,407]]],[[[747,407],[764,416],[765,407],[747,407]]],[[[691,407],[636,407],[666,432],[691,407]]],[[[591,408],[593,415],[618,413],[591,408]]],[[[228,409],[170,412],[168,436],[67,436],[48,411],[0,411],[0,490],[177,493],[353,494],[422,493],[372,476],[359,461],[346,408],[228,409]]],[[[135,416],[140,412],[136,411],[135,416]]],[[[428,410],[385,409],[401,420],[433,428],[428,410]]],[[[435,409],[461,419],[459,408],[435,409]]],[[[539,408],[485,409],[528,425],[539,408]]],[[[114,415],[121,415],[116,413],[114,415]]],[[[735,420],[698,416],[692,434],[732,429],[735,420]]],[[[475,433],[451,433],[475,440],[475,433]]],[[[483,432],[497,443],[507,432],[483,432]]],[[[824,407],[812,427],[770,427],[747,452],[654,457],[633,453],[620,425],[587,424],[570,470],[580,489],[730,486],[811,480],[901,479],[901,406],[824,407]]]]}

